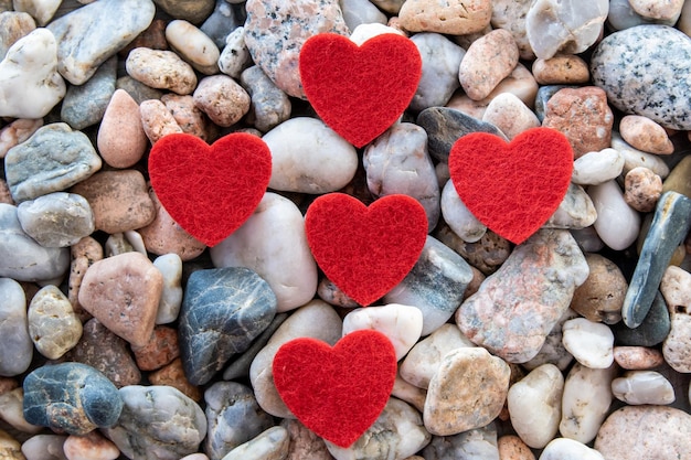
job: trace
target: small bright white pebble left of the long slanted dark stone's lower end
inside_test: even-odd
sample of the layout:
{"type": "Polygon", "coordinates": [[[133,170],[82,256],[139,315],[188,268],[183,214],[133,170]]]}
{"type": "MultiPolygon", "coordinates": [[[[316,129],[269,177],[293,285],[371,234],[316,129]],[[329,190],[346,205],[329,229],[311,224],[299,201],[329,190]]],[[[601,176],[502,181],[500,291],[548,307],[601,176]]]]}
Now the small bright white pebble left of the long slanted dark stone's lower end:
{"type": "Polygon", "coordinates": [[[574,318],[562,327],[562,342],[577,362],[591,368],[607,368],[614,363],[614,333],[607,324],[574,318]]]}

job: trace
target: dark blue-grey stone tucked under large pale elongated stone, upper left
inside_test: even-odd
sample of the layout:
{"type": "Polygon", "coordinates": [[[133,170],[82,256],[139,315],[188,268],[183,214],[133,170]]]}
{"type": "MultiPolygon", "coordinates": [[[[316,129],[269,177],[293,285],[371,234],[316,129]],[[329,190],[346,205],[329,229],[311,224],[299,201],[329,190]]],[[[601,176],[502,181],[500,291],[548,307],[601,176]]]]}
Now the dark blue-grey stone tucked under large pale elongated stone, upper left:
{"type": "Polygon", "coordinates": [[[84,85],[70,85],[60,118],[72,129],[84,129],[100,121],[115,93],[116,71],[117,57],[114,56],[104,62],[84,85]]]}

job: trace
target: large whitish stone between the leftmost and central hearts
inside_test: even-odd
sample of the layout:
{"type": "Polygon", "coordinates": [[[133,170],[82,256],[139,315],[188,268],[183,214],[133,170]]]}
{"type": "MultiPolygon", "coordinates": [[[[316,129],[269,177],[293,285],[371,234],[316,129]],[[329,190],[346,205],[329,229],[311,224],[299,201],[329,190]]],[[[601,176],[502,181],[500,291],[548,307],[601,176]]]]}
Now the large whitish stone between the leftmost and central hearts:
{"type": "Polygon", "coordinates": [[[317,291],[317,264],[302,213],[276,193],[265,193],[254,214],[209,253],[214,267],[245,267],[266,280],[276,295],[277,312],[304,306],[317,291]]]}

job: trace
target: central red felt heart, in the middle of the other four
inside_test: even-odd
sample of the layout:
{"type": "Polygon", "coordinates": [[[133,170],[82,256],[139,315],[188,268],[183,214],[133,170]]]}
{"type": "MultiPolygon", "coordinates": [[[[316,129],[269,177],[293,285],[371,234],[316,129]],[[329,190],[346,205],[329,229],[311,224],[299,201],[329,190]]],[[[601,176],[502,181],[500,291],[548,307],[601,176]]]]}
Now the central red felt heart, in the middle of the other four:
{"type": "Polygon", "coordinates": [[[350,195],[329,193],[307,210],[305,232],[325,275],[368,306],[411,271],[425,246],[427,216],[406,195],[387,195],[368,207],[350,195]]]}

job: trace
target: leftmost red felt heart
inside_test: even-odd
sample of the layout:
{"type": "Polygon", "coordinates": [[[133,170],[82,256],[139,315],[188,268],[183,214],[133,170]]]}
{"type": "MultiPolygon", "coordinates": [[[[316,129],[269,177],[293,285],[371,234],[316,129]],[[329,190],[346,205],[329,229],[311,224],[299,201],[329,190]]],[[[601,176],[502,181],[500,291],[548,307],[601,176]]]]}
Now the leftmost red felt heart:
{"type": "Polygon", "coordinates": [[[173,133],[151,148],[149,176],[170,216],[214,246],[259,204],[272,176],[272,153],[262,139],[244,132],[212,146],[192,135],[173,133]]]}

